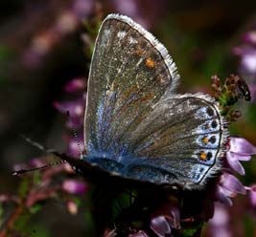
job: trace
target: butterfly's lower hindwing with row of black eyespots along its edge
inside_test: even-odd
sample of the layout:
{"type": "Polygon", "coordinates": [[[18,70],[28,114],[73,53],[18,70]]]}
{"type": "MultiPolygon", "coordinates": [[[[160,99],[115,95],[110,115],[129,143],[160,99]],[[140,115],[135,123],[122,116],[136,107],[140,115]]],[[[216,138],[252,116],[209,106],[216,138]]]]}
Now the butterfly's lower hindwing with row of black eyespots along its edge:
{"type": "Polygon", "coordinates": [[[124,173],[153,183],[200,187],[221,168],[224,126],[212,97],[164,97],[129,135],[135,159],[124,173]]]}

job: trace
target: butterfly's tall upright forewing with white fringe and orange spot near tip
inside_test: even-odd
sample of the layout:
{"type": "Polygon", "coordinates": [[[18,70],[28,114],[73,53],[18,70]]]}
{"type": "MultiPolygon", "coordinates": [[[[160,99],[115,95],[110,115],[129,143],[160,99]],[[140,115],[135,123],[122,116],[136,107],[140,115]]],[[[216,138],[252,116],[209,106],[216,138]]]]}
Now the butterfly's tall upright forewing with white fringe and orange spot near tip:
{"type": "Polygon", "coordinates": [[[99,31],[92,57],[85,113],[89,154],[111,159],[128,153],[134,131],[179,75],[165,47],[127,16],[110,14],[99,31]],[[126,143],[122,142],[126,140],[126,143]]]}

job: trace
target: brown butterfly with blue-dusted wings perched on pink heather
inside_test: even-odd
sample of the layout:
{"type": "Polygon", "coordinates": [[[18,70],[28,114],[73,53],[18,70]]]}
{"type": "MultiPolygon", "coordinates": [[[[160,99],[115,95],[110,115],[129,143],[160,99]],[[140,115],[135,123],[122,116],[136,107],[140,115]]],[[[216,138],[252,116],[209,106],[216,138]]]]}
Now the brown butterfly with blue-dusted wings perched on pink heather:
{"type": "Polygon", "coordinates": [[[116,176],[201,189],[221,171],[226,122],[215,98],[177,94],[179,77],[151,32],[128,16],[107,15],[88,78],[87,155],[57,155],[100,180],[116,176]]]}

